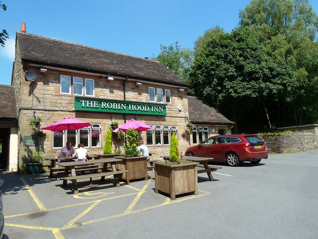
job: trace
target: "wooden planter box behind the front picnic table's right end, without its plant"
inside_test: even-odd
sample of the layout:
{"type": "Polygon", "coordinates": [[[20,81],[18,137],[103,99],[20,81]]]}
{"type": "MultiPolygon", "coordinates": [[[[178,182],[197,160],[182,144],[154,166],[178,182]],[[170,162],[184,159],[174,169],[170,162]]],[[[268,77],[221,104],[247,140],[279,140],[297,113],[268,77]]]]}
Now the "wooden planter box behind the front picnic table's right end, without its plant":
{"type": "Polygon", "coordinates": [[[117,170],[129,170],[128,173],[123,173],[122,179],[129,183],[130,180],[144,178],[148,180],[147,156],[140,157],[125,157],[117,156],[123,161],[116,162],[117,170]]]}

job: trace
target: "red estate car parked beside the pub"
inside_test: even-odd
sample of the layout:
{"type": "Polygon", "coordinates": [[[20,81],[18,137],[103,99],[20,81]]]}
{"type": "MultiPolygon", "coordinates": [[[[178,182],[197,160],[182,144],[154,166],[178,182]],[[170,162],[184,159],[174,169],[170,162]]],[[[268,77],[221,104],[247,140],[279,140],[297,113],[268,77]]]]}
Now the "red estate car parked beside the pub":
{"type": "Polygon", "coordinates": [[[227,162],[229,166],[238,166],[240,162],[259,163],[268,157],[264,140],[254,134],[216,135],[190,147],[187,156],[211,157],[214,162],[227,162]]]}

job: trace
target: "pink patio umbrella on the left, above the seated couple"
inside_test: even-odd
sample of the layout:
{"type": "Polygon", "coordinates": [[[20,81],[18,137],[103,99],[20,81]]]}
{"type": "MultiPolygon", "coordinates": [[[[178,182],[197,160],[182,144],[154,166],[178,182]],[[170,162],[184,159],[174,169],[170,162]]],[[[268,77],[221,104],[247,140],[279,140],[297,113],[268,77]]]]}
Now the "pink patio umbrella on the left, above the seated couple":
{"type": "Polygon", "coordinates": [[[70,130],[79,129],[87,126],[91,126],[92,124],[87,123],[85,121],[81,121],[79,119],[73,119],[72,117],[64,118],[60,121],[52,123],[48,126],[43,127],[42,129],[47,129],[51,131],[61,131],[61,130],[69,130],[69,141],[71,141],[70,130]]]}

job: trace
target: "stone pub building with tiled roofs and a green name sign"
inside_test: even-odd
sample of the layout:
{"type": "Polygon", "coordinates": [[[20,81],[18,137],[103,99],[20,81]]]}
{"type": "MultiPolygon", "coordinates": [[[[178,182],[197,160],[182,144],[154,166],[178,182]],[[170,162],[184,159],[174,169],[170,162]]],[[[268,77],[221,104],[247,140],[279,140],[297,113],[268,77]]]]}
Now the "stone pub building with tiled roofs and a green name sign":
{"type": "MultiPolygon", "coordinates": [[[[213,134],[231,133],[234,122],[189,97],[190,87],[157,61],[21,29],[16,33],[11,86],[0,85],[9,106],[0,111],[0,163],[24,173],[32,152],[55,156],[66,145],[67,130],[33,135],[31,119],[41,118],[40,127],[65,117],[91,123],[70,132],[73,145],[83,143],[90,154],[103,152],[107,127],[114,121],[121,125],[136,119],[153,126],[142,132],[142,139],[154,158],[168,154],[172,133],[183,152],[213,134]],[[188,122],[195,126],[190,133],[188,122]]],[[[123,151],[123,142],[113,137],[113,150],[123,151]]]]}

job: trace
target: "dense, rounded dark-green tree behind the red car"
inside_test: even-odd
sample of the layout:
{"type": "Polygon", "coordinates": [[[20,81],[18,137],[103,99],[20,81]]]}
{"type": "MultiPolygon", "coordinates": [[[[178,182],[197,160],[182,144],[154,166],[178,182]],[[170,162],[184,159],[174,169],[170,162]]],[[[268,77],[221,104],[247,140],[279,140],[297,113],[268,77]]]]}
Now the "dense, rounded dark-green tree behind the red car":
{"type": "Polygon", "coordinates": [[[213,36],[202,47],[195,56],[189,83],[194,86],[192,93],[237,124],[243,121],[238,113],[253,114],[261,106],[271,127],[268,107],[278,99],[287,100],[293,81],[287,64],[271,60],[248,32],[236,29],[213,36]],[[229,106],[231,111],[225,110],[229,106]]]}

